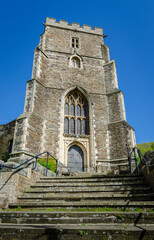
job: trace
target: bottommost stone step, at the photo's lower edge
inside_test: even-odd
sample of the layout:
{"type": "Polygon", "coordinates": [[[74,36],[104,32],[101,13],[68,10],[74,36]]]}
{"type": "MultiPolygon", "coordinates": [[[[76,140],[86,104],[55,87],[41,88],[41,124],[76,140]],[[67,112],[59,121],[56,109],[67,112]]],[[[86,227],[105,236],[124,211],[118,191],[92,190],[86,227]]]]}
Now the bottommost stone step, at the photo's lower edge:
{"type": "Polygon", "coordinates": [[[132,224],[0,224],[2,240],[153,240],[154,225],[132,224]]]}

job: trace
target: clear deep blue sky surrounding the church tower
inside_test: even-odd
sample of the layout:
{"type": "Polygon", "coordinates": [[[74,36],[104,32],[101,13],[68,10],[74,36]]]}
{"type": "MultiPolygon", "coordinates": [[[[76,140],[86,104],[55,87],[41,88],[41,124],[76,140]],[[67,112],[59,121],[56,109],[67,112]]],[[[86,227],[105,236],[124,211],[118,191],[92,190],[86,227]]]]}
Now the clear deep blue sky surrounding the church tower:
{"type": "Polygon", "coordinates": [[[46,17],[102,27],[136,141],[154,141],[154,1],[1,1],[0,124],[17,118],[46,17]]]}

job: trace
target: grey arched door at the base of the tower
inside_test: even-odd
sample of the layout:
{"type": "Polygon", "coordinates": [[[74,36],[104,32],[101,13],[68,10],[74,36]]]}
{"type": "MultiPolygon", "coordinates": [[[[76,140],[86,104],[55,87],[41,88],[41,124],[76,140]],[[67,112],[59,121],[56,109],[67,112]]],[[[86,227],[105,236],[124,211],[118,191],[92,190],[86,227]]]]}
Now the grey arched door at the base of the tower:
{"type": "Polygon", "coordinates": [[[71,172],[84,171],[84,154],[79,146],[73,145],[68,149],[67,167],[71,172]]]}

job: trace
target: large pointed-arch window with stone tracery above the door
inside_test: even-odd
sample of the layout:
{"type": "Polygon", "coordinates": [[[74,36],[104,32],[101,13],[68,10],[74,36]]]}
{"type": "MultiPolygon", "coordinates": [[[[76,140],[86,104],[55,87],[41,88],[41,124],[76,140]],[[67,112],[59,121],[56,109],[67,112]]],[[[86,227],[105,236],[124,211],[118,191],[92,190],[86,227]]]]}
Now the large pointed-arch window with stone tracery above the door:
{"type": "Polygon", "coordinates": [[[65,97],[64,134],[88,135],[88,102],[85,96],[74,90],[65,97]]]}

